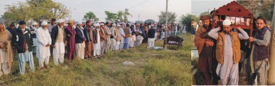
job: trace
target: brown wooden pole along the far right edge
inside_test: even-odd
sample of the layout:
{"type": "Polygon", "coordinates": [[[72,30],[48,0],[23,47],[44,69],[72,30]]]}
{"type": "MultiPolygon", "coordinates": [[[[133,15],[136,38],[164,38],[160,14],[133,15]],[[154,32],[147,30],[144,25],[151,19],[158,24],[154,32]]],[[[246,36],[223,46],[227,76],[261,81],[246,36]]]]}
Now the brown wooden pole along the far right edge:
{"type": "MultiPolygon", "coordinates": [[[[275,10],[275,6],[274,6],[275,10]]],[[[275,11],[272,18],[272,36],[270,41],[270,69],[267,73],[267,85],[275,85],[275,11]]]]}

